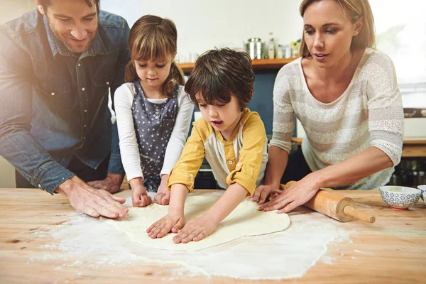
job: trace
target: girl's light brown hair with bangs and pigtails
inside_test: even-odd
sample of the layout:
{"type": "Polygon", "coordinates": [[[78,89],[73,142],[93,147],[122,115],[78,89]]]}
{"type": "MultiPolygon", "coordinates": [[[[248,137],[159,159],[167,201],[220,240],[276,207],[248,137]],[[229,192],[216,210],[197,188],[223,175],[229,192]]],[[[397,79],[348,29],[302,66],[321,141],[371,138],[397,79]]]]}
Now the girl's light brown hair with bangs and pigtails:
{"type": "MultiPolygon", "coordinates": [[[[126,65],[126,82],[139,80],[134,60],[163,60],[167,55],[174,57],[178,50],[178,31],[168,18],[146,15],[139,18],[129,33],[131,60],[126,65]]],[[[166,97],[173,97],[175,84],[185,84],[182,69],[173,59],[170,73],[163,84],[166,97]]]]}

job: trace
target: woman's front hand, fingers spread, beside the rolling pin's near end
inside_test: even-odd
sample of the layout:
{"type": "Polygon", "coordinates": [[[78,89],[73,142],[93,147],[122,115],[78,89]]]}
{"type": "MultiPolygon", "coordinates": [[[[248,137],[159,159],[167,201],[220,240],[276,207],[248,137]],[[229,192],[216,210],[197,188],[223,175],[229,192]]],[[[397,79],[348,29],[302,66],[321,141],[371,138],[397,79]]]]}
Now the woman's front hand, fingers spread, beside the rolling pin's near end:
{"type": "Polygon", "coordinates": [[[317,185],[317,178],[310,173],[302,180],[293,183],[287,190],[278,196],[271,197],[271,201],[259,207],[259,210],[273,211],[278,213],[287,213],[295,209],[297,206],[305,204],[320,189],[317,185]]]}

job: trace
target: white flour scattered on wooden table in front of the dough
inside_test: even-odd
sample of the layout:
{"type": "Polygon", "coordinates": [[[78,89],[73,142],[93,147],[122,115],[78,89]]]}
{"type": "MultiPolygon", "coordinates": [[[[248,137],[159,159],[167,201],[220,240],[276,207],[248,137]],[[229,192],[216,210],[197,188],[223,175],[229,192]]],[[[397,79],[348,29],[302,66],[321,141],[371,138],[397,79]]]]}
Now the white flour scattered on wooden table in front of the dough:
{"type": "MultiPolygon", "coordinates": [[[[130,197],[126,199],[128,204],[131,206],[130,197]]],[[[246,236],[200,251],[165,251],[138,244],[99,218],[69,212],[65,217],[68,222],[48,230],[31,231],[33,241],[40,243],[44,252],[29,261],[50,263],[54,259],[58,265],[55,271],[72,271],[76,275],[83,268],[109,268],[111,273],[125,273],[129,268],[137,271],[157,266],[158,271],[153,271],[165,282],[185,283],[191,277],[209,282],[211,276],[252,280],[299,278],[318,261],[332,265],[346,259],[344,253],[327,253],[333,242],[351,243],[349,231],[342,223],[305,207],[298,207],[289,215],[291,226],[274,234],[246,236]],[[48,241],[54,246],[45,246],[48,241]]],[[[65,283],[66,275],[58,273],[56,280],[65,283]]],[[[84,282],[87,278],[79,280],[84,282]]],[[[229,280],[224,278],[222,282],[229,280]]]]}

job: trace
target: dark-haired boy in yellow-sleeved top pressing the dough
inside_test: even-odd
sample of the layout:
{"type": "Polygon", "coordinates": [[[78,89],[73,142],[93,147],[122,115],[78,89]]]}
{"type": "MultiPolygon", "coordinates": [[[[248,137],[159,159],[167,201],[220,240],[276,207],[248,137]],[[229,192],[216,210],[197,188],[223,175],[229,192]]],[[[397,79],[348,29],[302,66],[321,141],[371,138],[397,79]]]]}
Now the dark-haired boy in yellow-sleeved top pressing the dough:
{"type": "Polygon", "coordinates": [[[200,108],[190,138],[168,179],[168,215],[148,228],[148,236],[178,233],[173,241],[200,241],[259,185],[268,161],[267,139],[261,117],[246,108],[253,95],[254,74],[247,53],[223,48],[198,58],[185,90],[200,108]],[[185,224],[188,191],[206,157],[214,178],[226,192],[197,219],[185,224]]]}

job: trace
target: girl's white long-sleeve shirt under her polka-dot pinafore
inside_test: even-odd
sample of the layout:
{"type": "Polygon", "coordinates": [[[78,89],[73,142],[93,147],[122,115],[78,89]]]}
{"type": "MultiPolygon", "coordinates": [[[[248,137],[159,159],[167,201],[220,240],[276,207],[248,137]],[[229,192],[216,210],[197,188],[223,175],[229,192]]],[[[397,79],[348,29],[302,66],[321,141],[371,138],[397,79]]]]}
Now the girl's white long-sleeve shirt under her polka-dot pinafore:
{"type": "MultiPolygon", "coordinates": [[[[127,180],[143,178],[141,158],[139,155],[138,141],[134,129],[131,106],[136,94],[133,83],[122,84],[114,94],[114,106],[116,111],[117,128],[119,130],[121,161],[126,171],[127,180]]],[[[167,99],[148,99],[154,104],[162,104],[167,99]]],[[[184,87],[178,90],[178,114],[168,142],[163,168],[160,175],[168,175],[182,153],[183,146],[190,129],[190,122],[194,105],[185,93],[184,87]]]]}

